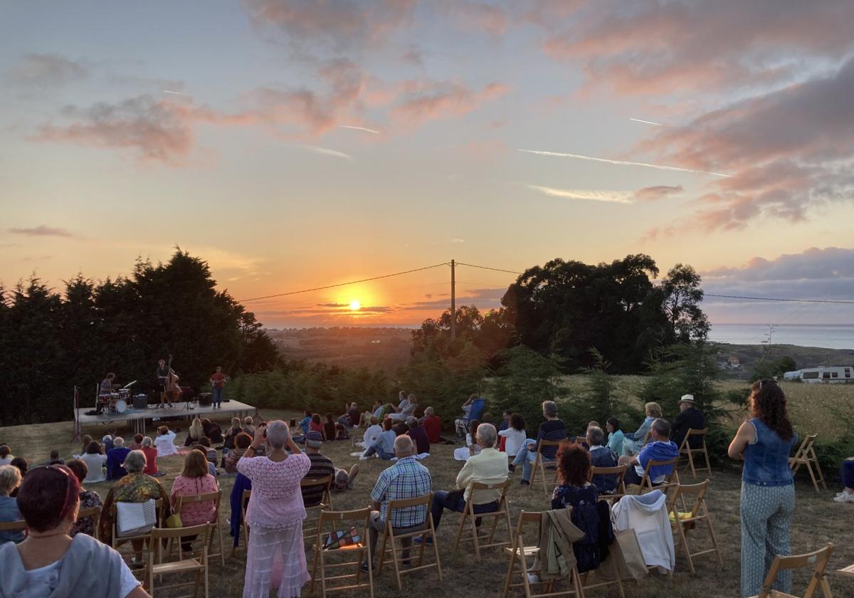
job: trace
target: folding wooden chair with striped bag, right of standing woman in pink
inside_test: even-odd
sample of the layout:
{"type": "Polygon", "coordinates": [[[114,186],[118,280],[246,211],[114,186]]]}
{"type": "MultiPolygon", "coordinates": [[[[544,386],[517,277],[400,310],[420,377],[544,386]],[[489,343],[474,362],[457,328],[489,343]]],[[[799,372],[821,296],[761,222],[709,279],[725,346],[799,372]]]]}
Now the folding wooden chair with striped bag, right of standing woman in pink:
{"type": "MultiPolygon", "coordinates": [[[[314,561],[312,565],[312,585],[309,591],[314,591],[314,583],[318,580],[318,566],[320,567],[320,589],[323,594],[323,598],[326,598],[326,591],[334,591],[338,592],[342,589],[360,589],[367,588],[370,591],[370,598],[373,598],[373,567],[368,566],[367,574],[362,572],[360,565],[362,561],[366,561],[369,565],[371,564],[371,543],[368,542],[368,527],[371,525],[371,507],[359,509],[357,511],[321,511],[320,519],[318,522],[318,534],[315,536],[314,542],[314,561]],[[334,534],[336,531],[336,527],[340,531],[349,531],[351,525],[352,527],[356,527],[356,524],[362,525],[362,529],[359,530],[357,527],[357,531],[360,531],[360,541],[355,544],[350,544],[348,546],[342,546],[341,548],[324,548],[324,538],[325,536],[330,536],[334,534]],[[347,524],[346,529],[342,528],[342,524],[347,524]],[[328,528],[328,531],[324,530],[324,527],[328,528]],[[356,560],[342,560],[339,562],[330,562],[327,563],[326,560],[330,558],[332,554],[355,554],[356,560]],[[342,567],[354,567],[355,573],[345,573],[343,575],[336,575],[334,577],[327,577],[327,570],[336,570],[342,567]],[[367,582],[360,582],[363,575],[367,575],[367,582]],[[327,588],[328,582],[342,582],[346,583],[343,580],[353,579],[353,583],[349,583],[348,585],[335,585],[333,587],[327,588]]],[[[342,557],[343,558],[343,557],[342,557]]]]}

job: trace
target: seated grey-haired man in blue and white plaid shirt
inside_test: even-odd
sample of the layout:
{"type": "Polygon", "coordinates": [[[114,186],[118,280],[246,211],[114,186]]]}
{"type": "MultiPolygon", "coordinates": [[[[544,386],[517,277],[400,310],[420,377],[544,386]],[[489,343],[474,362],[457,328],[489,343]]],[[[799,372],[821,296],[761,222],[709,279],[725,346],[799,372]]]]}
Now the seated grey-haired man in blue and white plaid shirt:
{"type": "MultiPolygon", "coordinates": [[[[371,490],[371,501],[376,511],[371,512],[371,556],[377,554],[379,534],[385,530],[386,519],[389,518],[389,501],[401,501],[407,498],[418,498],[430,494],[432,479],[430,470],[418,463],[412,456],[412,438],[403,435],[395,439],[395,456],[397,462],[379,474],[377,484],[371,490]]],[[[427,525],[427,507],[405,507],[395,509],[390,515],[391,526],[395,533],[407,534],[411,531],[423,530],[427,525]]],[[[409,548],[412,538],[401,538],[403,548],[409,548]]],[[[409,551],[403,553],[403,566],[409,566],[409,551]]],[[[362,570],[367,571],[367,561],[362,563],[362,570]]]]}

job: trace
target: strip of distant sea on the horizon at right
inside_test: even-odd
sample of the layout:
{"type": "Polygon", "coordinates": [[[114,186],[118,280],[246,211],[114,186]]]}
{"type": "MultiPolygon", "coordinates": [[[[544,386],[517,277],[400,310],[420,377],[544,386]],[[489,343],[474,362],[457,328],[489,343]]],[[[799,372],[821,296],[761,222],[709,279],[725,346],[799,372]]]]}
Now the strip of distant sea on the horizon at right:
{"type": "MultiPolygon", "coordinates": [[[[767,337],[763,324],[713,324],[709,332],[709,340],[718,343],[759,344],[767,337]]],[[[775,325],[771,343],[854,349],[854,325],[775,325]]]]}

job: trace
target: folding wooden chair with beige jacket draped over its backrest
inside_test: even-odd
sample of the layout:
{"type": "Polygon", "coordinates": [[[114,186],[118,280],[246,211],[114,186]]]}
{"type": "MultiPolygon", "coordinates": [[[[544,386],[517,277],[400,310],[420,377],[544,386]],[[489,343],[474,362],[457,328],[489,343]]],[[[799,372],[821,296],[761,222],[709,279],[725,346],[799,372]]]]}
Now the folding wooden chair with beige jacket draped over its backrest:
{"type": "MultiPolygon", "coordinates": [[[[542,533],[542,513],[529,513],[526,511],[519,512],[519,519],[516,525],[516,533],[513,536],[511,546],[504,548],[504,554],[509,556],[507,564],[507,577],[504,582],[504,598],[510,594],[511,588],[522,587],[525,590],[525,598],[544,598],[546,596],[574,595],[576,598],[583,598],[584,591],[582,590],[581,577],[578,575],[576,566],[572,567],[570,572],[570,589],[564,591],[553,592],[553,584],[556,579],[548,579],[546,581],[532,581],[529,573],[539,574],[540,568],[535,566],[535,562],[539,562],[537,557],[540,553],[540,536],[542,533]],[[525,531],[528,530],[528,531],[525,531]],[[525,546],[522,536],[525,531],[531,544],[525,546]],[[518,567],[518,569],[517,569],[518,567]],[[512,583],[513,573],[518,571],[522,576],[522,581],[512,583]],[[532,591],[532,586],[544,586],[544,591],[535,593],[532,591]]],[[[539,577],[538,577],[539,579],[539,577]]]]}

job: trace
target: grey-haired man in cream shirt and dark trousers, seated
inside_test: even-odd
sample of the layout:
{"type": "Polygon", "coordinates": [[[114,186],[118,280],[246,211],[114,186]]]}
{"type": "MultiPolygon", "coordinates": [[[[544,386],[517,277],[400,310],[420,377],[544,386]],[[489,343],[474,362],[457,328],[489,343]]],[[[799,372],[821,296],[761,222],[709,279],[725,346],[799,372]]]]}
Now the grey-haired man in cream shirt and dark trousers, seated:
{"type": "MultiPolygon", "coordinates": [[[[465,465],[457,474],[457,490],[446,492],[437,490],[433,495],[433,525],[439,529],[442,513],[445,509],[462,513],[465,510],[466,501],[471,494],[471,484],[501,484],[507,479],[507,455],[495,448],[498,434],[492,424],[481,424],[477,426],[477,444],[483,447],[480,453],[465,461],[465,465]]],[[[475,495],[475,513],[494,513],[498,510],[498,501],[501,490],[478,490],[475,495]]],[[[421,542],[421,538],[416,538],[421,542]]],[[[428,539],[428,543],[431,540],[428,539]]]]}

